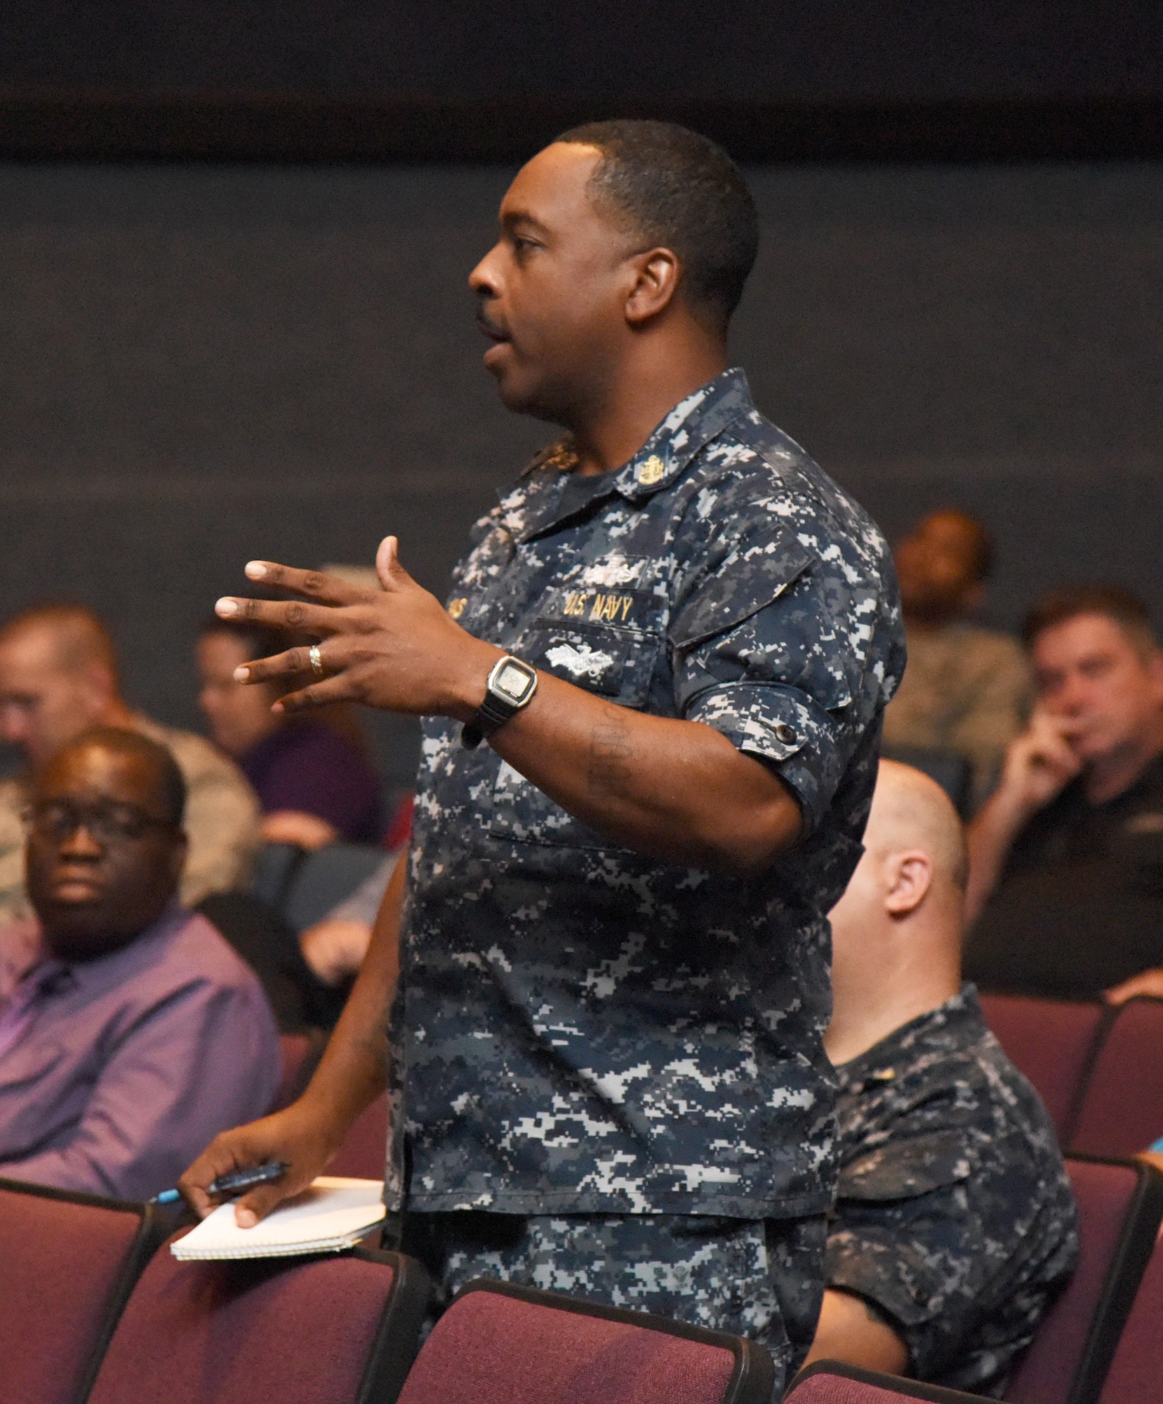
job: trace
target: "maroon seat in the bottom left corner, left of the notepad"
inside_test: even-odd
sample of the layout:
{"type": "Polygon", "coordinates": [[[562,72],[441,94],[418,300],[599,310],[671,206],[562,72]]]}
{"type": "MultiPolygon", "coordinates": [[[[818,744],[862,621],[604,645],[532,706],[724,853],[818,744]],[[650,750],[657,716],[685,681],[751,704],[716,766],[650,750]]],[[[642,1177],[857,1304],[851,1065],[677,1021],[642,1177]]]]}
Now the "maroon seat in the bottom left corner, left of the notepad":
{"type": "Polygon", "coordinates": [[[146,1205],[0,1179],[0,1398],[83,1398],[163,1237],[146,1205]]]}

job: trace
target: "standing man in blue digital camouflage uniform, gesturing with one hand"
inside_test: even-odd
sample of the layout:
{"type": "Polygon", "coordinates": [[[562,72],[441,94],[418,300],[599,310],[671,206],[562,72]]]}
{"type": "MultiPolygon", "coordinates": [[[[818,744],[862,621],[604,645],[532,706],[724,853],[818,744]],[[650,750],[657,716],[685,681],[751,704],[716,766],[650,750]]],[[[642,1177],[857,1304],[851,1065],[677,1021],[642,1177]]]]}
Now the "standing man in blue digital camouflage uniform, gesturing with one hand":
{"type": "Polygon", "coordinates": [[[319,1074],[185,1188],[205,1209],[216,1167],[278,1154],[250,1219],[317,1172],[383,1087],[399,952],[405,1243],[444,1287],[742,1331],[782,1375],[834,1188],[826,913],[905,660],[879,532],[729,369],[756,230],[702,138],[566,133],[471,281],[504,403],[570,432],[478,524],[447,609],[393,538],[383,594],[253,563],[317,604],[219,604],[323,639],[249,667],[327,674],[284,706],[427,720],[406,903],[399,882],[319,1074]],[[478,709],[506,658],[537,692],[499,724],[478,709]]]}

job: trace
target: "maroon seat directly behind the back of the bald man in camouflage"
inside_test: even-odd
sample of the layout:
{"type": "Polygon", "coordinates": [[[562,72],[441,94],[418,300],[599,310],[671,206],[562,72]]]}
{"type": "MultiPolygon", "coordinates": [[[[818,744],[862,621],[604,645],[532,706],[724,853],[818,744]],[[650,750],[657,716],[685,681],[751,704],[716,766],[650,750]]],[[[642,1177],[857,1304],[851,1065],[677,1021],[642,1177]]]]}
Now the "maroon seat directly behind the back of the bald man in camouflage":
{"type": "Polygon", "coordinates": [[[1148,1165],[1067,1157],[1082,1259],[1018,1363],[1013,1404],[1096,1404],[1163,1220],[1163,1175],[1148,1165]]]}

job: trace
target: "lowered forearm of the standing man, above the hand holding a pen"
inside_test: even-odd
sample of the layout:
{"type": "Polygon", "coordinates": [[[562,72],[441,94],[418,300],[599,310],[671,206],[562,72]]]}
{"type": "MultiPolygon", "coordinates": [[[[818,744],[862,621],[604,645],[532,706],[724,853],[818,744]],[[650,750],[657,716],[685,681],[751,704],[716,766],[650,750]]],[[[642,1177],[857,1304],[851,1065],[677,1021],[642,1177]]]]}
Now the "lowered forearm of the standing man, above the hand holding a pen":
{"type": "Polygon", "coordinates": [[[383,894],[371,945],[319,1067],[303,1092],[339,1130],[383,1091],[388,1022],[399,979],[400,913],[407,863],[400,862],[383,894]]]}

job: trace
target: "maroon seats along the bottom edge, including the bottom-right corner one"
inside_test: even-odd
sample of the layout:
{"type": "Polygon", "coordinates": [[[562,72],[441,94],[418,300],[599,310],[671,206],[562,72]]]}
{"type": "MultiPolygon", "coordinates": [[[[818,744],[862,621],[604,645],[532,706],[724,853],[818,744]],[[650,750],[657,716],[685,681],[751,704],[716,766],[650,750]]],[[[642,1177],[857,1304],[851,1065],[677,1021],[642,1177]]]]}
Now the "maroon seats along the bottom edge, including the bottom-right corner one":
{"type": "MultiPolygon", "coordinates": [[[[1004,1398],[1163,1404],[1163,1175],[1067,1161],[1082,1262],[1004,1398]]],[[[8,1404],[768,1404],[750,1341],[476,1282],[420,1349],[430,1285],[376,1248],[177,1262],[153,1206],[0,1181],[0,1398],[8,1404]]],[[[795,1404],[971,1400],[824,1363],[795,1404]]]]}

